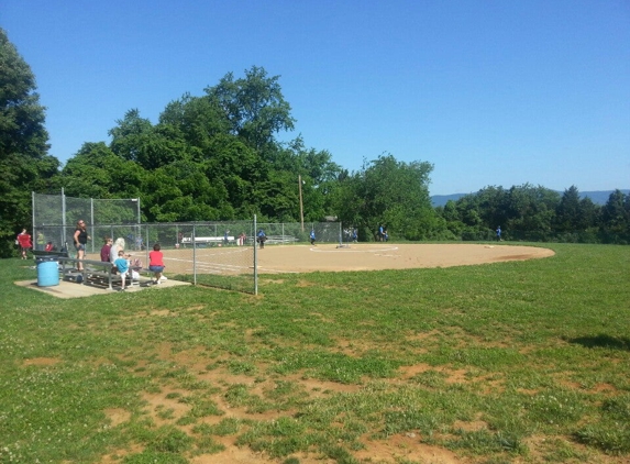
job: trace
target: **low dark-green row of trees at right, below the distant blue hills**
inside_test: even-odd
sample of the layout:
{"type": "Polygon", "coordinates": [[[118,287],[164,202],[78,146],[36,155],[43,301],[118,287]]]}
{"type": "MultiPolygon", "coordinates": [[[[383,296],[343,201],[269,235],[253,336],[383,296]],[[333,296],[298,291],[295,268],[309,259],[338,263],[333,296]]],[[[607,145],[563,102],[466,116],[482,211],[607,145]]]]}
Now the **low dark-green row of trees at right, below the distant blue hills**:
{"type": "Polygon", "coordinates": [[[561,195],[526,184],[486,187],[436,208],[457,240],[488,240],[501,227],[506,240],[630,243],[630,194],[610,194],[606,205],[581,198],[572,186],[561,195]]]}

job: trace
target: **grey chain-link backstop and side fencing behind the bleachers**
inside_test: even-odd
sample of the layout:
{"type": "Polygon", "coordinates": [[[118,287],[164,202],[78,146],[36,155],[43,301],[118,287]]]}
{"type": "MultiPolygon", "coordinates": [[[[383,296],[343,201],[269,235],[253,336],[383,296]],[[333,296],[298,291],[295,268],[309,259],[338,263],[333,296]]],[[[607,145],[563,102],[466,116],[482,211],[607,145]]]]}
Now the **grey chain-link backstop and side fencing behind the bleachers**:
{"type": "Polygon", "coordinates": [[[168,278],[211,287],[257,294],[256,234],[262,229],[269,245],[308,244],[314,231],[318,243],[345,242],[339,222],[257,223],[208,221],[141,223],[140,200],[97,200],[33,194],[35,246],[51,243],[55,250],[76,254],[73,234],[76,222],[88,223],[87,258],[100,259],[107,237],[124,243],[123,248],[140,259],[148,273],[148,253],[158,243],[168,278]]]}

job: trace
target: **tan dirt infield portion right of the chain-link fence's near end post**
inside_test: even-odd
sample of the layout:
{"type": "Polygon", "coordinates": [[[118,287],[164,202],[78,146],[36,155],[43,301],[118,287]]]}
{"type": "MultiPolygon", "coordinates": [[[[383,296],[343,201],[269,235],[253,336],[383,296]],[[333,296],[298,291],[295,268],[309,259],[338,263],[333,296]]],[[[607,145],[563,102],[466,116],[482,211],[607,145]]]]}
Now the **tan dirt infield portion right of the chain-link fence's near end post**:
{"type": "Polygon", "coordinates": [[[267,246],[258,250],[258,273],[312,273],[466,266],[553,256],[534,246],[502,244],[353,244],[267,246]]]}

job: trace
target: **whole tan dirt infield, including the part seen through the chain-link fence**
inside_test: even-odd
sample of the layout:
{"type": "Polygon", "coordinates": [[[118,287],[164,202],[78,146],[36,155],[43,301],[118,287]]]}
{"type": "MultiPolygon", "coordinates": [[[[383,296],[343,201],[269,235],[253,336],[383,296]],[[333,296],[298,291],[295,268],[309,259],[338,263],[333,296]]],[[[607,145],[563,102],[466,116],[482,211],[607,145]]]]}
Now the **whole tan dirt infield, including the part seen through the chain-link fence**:
{"type": "MultiPolygon", "coordinates": [[[[167,275],[239,275],[253,273],[251,246],[163,250],[167,275]]],[[[257,250],[258,273],[313,273],[342,270],[408,269],[417,267],[466,266],[501,261],[523,261],[552,256],[551,250],[505,244],[391,244],[357,243],[347,247],[323,245],[267,245],[257,250]]],[[[145,252],[132,252],[146,261],[145,252]]],[[[89,256],[92,257],[91,255],[89,256]]],[[[96,255],[95,259],[99,259],[96,255]]],[[[145,267],[146,267],[145,263],[145,267]]]]}

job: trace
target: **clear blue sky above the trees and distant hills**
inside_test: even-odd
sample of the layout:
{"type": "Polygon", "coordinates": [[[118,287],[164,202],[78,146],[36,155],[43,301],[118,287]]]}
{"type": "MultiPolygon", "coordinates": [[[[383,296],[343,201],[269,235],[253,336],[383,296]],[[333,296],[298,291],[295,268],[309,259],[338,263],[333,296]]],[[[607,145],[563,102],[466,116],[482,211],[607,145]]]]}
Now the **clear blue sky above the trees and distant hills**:
{"type": "Polygon", "coordinates": [[[630,188],[628,0],[2,0],[65,163],[252,66],[307,147],[434,165],[431,195],[630,188]]]}

